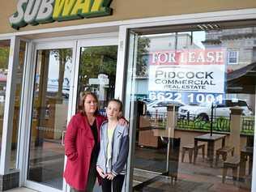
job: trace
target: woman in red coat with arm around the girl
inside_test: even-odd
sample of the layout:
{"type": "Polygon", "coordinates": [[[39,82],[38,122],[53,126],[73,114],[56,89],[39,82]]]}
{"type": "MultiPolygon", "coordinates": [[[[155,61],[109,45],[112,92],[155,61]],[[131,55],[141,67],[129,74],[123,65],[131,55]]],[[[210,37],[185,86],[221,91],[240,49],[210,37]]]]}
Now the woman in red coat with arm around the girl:
{"type": "Polygon", "coordinates": [[[83,110],[71,118],[65,136],[67,162],[64,177],[73,192],[93,190],[100,150],[100,126],[106,119],[98,113],[94,93],[87,92],[82,104],[83,110]]]}

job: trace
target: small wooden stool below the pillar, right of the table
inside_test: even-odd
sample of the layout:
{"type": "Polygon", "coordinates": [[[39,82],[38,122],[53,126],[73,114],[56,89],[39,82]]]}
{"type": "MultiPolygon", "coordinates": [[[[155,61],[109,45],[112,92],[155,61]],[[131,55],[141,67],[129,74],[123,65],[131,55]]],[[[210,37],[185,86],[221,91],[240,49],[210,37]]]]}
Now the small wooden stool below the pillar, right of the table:
{"type": "Polygon", "coordinates": [[[229,156],[227,160],[224,161],[224,168],[222,174],[222,182],[226,180],[228,168],[232,169],[233,173],[233,182],[237,181],[237,169],[240,164],[240,158],[238,156],[229,156]]]}

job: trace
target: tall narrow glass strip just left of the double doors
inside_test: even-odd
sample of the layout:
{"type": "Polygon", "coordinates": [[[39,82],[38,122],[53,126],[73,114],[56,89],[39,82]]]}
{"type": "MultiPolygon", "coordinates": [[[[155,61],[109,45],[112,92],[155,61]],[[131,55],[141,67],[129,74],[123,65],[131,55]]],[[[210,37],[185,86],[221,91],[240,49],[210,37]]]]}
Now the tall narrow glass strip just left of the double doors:
{"type": "Polygon", "coordinates": [[[16,168],[16,157],[18,147],[18,134],[19,134],[19,113],[20,113],[20,102],[23,84],[23,67],[26,57],[26,45],[25,41],[20,41],[19,45],[19,64],[17,67],[17,73],[15,78],[16,91],[15,91],[15,109],[13,117],[13,130],[12,130],[12,142],[11,142],[11,164],[10,169],[16,168]]]}

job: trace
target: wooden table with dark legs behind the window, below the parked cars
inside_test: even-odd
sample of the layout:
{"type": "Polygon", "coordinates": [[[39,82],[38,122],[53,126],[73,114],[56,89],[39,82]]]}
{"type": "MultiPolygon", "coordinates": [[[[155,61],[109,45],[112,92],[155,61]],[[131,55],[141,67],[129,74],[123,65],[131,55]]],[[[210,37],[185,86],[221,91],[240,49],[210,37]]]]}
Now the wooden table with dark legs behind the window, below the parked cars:
{"type": "Polygon", "coordinates": [[[209,158],[211,167],[213,164],[213,157],[214,157],[214,147],[215,141],[222,140],[222,147],[225,146],[225,134],[203,134],[197,137],[194,137],[194,164],[196,163],[196,158],[198,155],[198,141],[200,142],[207,142],[207,157],[209,158]]]}

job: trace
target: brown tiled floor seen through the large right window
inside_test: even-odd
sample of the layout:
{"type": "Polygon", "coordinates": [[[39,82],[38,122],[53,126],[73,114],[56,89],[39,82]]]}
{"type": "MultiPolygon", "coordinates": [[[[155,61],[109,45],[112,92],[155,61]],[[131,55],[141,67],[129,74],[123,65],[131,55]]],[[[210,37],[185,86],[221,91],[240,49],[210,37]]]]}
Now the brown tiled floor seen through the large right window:
{"type": "MultiPolygon", "coordinates": [[[[139,185],[143,181],[147,181],[154,176],[153,173],[163,172],[164,164],[166,164],[165,156],[162,154],[166,153],[162,149],[152,149],[152,148],[136,148],[134,166],[138,169],[134,170],[134,186],[139,185]],[[143,173],[144,172],[144,173],[143,173]],[[151,172],[151,174],[149,174],[151,172]]],[[[169,178],[160,177],[157,181],[148,183],[147,186],[143,187],[139,191],[143,192],[173,192],[179,191],[190,191],[190,192],[249,192],[250,190],[250,178],[245,182],[233,183],[233,178],[231,170],[228,170],[228,177],[225,183],[222,183],[222,165],[223,160],[220,160],[218,166],[210,167],[209,162],[203,160],[202,156],[198,156],[197,164],[190,164],[188,156],[178,164],[177,170],[177,182],[172,184],[169,178]]],[[[170,163],[173,166],[173,162],[170,163]]],[[[248,170],[246,171],[248,173],[248,170]]]]}

